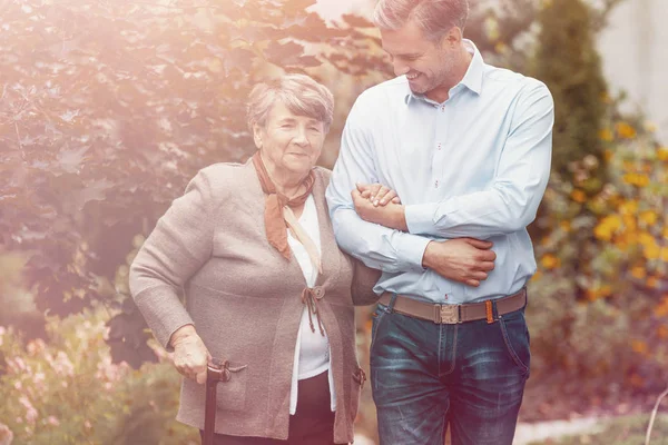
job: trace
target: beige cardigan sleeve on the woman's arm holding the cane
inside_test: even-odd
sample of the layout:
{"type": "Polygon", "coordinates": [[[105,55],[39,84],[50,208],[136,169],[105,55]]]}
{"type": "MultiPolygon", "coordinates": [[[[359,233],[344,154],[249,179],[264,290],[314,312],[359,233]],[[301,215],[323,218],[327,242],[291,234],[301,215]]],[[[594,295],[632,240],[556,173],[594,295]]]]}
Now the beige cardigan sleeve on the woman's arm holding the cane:
{"type": "Polygon", "coordinates": [[[210,181],[202,170],[158,220],[130,266],[132,298],[167,350],[175,330],[194,325],[178,295],[212,255],[214,207],[210,181]]]}

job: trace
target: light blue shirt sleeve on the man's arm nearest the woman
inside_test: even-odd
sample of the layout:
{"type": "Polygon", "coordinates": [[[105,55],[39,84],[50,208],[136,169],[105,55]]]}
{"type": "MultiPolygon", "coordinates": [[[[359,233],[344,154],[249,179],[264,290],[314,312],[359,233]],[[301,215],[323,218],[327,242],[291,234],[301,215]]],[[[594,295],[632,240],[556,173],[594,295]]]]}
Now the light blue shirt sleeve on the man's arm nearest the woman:
{"type": "Polygon", "coordinates": [[[374,269],[422,271],[429,238],[367,222],[355,211],[351,196],[355,184],[370,184],[379,178],[373,146],[360,108],[357,99],[343,129],[341,152],[326,192],[336,241],[343,250],[374,269]]]}

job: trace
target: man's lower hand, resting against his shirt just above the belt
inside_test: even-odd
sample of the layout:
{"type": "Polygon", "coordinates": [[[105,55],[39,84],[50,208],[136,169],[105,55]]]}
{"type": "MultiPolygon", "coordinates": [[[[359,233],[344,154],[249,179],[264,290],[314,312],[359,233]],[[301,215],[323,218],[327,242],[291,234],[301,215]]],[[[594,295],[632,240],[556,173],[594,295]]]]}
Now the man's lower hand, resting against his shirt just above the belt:
{"type": "Polygon", "coordinates": [[[474,238],[431,241],[426,245],[422,265],[453,281],[478,287],[494,269],[492,243],[474,238]]]}

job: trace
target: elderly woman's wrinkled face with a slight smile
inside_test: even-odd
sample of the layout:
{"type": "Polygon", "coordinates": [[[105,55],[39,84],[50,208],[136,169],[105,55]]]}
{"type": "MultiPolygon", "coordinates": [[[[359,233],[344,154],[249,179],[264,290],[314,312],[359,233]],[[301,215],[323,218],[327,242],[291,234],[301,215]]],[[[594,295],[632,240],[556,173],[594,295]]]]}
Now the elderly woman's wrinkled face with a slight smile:
{"type": "Polygon", "coordinates": [[[325,125],[294,115],[282,101],[269,111],[265,127],[253,128],[255,145],[275,174],[303,175],[315,166],[325,141],[325,125]]]}

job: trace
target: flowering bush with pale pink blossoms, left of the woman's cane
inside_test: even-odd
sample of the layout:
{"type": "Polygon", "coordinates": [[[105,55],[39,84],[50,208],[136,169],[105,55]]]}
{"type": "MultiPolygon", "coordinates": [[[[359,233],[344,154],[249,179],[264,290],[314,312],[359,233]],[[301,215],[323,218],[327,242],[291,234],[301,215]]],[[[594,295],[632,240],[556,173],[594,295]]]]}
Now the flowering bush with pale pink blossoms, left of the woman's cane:
{"type": "Polygon", "coordinates": [[[16,444],[198,444],[174,421],[179,375],[168,360],[111,363],[105,312],[48,323],[50,342],[26,346],[0,327],[0,419],[16,444]]]}

